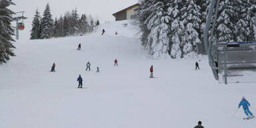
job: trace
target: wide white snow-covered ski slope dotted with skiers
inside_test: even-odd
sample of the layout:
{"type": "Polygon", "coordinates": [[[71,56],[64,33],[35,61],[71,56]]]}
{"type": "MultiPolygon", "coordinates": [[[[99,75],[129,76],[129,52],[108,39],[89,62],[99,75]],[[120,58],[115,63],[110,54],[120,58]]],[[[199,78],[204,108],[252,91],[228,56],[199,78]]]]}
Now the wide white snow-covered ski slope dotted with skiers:
{"type": "Polygon", "coordinates": [[[199,120],[205,128],[256,126],[256,119],[243,120],[242,109],[232,117],[242,96],[256,108],[255,83],[219,84],[205,57],[197,71],[196,59],[148,59],[138,34],[133,22],[121,21],[81,37],[17,41],[17,56],[0,65],[0,126],[185,128],[199,120]],[[78,75],[86,88],[77,89],[78,75]]]}

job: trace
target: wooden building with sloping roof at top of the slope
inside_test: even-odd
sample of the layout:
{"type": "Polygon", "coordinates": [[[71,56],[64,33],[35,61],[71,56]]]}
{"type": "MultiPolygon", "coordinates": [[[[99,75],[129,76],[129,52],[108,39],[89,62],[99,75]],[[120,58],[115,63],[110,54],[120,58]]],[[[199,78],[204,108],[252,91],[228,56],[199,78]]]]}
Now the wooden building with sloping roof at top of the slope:
{"type": "Polygon", "coordinates": [[[130,7],[127,7],[121,11],[118,11],[117,13],[114,13],[113,16],[115,17],[115,21],[123,21],[127,19],[137,19],[137,9],[139,7],[139,3],[136,3],[135,5],[131,5],[130,7]]]}

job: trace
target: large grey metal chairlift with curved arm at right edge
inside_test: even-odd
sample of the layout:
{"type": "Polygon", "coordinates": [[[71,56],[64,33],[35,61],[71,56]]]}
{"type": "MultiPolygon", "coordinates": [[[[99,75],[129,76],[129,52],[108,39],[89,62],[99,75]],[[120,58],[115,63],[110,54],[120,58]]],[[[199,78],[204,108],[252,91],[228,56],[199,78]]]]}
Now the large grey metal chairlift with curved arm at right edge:
{"type": "MultiPolygon", "coordinates": [[[[244,79],[244,77],[250,77],[253,74],[256,75],[256,42],[218,43],[217,39],[213,37],[213,33],[216,29],[219,3],[220,0],[211,1],[203,37],[213,75],[219,83],[252,82],[244,79]],[[210,29],[211,35],[209,36],[210,29]],[[250,74],[248,71],[255,71],[255,73],[250,74]]],[[[256,13],[254,15],[256,26],[256,13]]],[[[255,77],[249,79],[256,80],[255,77]]]]}

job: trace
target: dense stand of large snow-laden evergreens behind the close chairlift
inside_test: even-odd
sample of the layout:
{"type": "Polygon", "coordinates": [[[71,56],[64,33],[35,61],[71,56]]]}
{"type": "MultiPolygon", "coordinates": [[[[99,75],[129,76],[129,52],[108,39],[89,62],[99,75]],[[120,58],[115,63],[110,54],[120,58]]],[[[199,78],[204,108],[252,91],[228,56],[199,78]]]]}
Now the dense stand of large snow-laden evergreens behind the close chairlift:
{"type": "MultiPolygon", "coordinates": [[[[154,59],[205,53],[203,31],[211,0],[147,0],[139,6],[141,42],[154,59]]],[[[221,0],[217,42],[256,39],[255,0],[221,0]]],[[[210,33],[210,32],[209,32],[210,33]]]]}

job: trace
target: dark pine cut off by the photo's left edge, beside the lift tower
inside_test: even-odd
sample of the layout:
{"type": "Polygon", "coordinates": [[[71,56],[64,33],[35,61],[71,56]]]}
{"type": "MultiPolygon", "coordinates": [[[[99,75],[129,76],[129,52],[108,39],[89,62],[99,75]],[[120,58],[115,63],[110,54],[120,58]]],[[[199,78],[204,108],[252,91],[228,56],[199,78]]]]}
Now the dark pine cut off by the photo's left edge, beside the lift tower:
{"type": "Polygon", "coordinates": [[[9,56],[15,54],[11,50],[15,48],[12,44],[14,35],[14,29],[11,27],[11,21],[13,21],[13,11],[8,9],[10,5],[15,5],[11,0],[0,1],[0,63],[6,63],[9,60],[9,56]]]}

